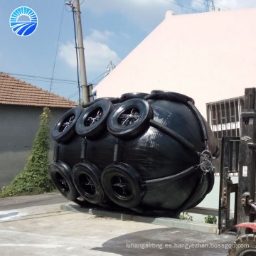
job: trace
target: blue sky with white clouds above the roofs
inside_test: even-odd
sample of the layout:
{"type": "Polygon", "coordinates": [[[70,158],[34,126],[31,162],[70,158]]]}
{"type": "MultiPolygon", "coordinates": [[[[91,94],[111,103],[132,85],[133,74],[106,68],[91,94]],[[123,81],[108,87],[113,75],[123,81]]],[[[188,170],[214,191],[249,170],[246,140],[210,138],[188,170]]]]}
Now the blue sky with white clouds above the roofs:
{"type": "MultiPolygon", "coordinates": [[[[215,11],[256,8],[255,0],[213,2],[215,11]]],[[[164,21],[166,11],[182,15],[207,9],[213,11],[210,0],[80,0],[87,83],[95,86],[104,79],[110,61],[118,65],[164,21]]],[[[0,31],[1,72],[78,102],[73,14],[65,1],[1,0],[0,31]],[[30,36],[18,36],[10,27],[11,13],[20,6],[38,17],[30,36]]]]}

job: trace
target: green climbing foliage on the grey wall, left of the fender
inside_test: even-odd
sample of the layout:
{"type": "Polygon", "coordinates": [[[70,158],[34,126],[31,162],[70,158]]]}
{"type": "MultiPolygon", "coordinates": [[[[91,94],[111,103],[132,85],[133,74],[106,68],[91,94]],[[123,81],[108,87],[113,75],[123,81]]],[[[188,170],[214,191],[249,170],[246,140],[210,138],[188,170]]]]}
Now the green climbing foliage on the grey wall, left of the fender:
{"type": "Polygon", "coordinates": [[[48,177],[50,149],[50,110],[48,107],[43,108],[40,119],[41,124],[24,170],[14,178],[9,186],[2,189],[0,197],[32,195],[54,190],[53,183],[48,177]]]}

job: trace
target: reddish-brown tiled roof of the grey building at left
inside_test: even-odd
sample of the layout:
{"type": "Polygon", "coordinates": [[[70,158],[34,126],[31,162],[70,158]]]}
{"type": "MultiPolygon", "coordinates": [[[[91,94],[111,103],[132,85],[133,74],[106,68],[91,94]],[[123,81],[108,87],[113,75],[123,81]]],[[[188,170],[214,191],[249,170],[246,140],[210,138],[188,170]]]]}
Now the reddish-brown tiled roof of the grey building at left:
{"type": "Polygon", "coordinates": [[[2,72],[0,72],[0,104],[42,107],[75,107],[78,105],[2,72]]]}

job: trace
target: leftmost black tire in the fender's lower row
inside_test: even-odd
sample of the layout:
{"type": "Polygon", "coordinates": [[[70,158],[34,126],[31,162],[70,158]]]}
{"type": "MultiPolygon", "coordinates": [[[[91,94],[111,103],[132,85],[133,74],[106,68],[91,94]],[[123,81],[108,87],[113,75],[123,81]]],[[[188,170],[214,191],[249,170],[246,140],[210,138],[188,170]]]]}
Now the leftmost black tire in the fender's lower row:
{"type": "Polygon", "coordinates": [[[67,164],[62,161],[50,164],[48,173],[55,187],[65,198],[75,201],[80,196],[75,189],[71,178],[71,169],[67,164]]]}

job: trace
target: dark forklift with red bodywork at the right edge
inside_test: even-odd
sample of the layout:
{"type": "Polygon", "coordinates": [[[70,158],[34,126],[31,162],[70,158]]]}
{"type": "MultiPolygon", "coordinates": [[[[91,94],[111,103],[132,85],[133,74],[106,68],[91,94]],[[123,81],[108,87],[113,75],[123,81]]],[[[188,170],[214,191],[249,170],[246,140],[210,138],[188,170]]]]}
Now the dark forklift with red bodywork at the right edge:
{"type": "Polygon", "coordinates": [[[228,256],[256,256],[255,174],[256,88],[246,88],[240,137],[222,138],[218,231],[222,234],[233,230],[238,238],[228,250],[228,256]],[[238,183],[231,179],[234,172],[238,173],[238,183]],[[235,193],[233,216],[230,215],[232,193],[235,193]]]}

